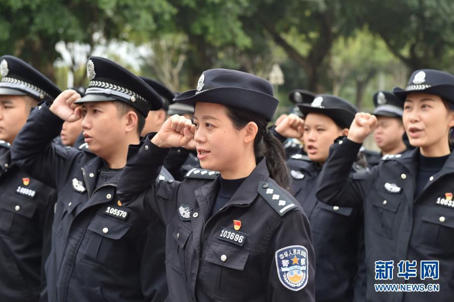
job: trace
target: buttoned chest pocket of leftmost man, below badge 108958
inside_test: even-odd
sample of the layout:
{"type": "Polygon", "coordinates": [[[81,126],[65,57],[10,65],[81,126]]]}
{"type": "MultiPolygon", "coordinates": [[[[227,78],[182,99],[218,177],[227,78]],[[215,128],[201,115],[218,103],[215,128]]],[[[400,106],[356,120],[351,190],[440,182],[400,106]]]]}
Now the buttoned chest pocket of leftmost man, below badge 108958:
{"type": "Polygon", "coordinates": [[[37,201],[19,196],[2,196],[0,205],[0,232],[12,237],[29,237],[36,230],[32,217],[37,201]]]}

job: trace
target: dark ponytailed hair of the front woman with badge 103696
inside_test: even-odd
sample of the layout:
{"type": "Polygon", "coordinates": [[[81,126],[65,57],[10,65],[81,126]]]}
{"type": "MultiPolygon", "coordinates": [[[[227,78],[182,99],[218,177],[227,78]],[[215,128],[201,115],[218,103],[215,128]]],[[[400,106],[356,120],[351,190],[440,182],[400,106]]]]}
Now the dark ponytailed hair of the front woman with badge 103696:
{"type": "Polygon", "coordinates": [[[243,129],[249,122],[257,124],[258,132],[254,139],[256,164],[265,157],[269,175],[287,191],[291,191],[290,170],[286,163],[286,152],[282,144],[266,129],[266,118],[249,110],[225,106],[227,116],[234,127],[243,129]]]}

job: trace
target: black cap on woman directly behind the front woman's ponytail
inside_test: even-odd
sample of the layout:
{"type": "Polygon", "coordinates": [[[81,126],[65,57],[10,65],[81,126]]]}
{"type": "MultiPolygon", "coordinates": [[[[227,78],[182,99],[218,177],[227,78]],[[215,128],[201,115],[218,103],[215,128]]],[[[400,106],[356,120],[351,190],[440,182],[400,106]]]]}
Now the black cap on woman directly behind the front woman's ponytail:
{"type": "Polygon", "coordinates": [[[341,128],[350,128],[358,109],[348,101],[330,94],[317,95],[310,104],[298,104],[303,114],[310,112],[329,116],[341,128]]]}

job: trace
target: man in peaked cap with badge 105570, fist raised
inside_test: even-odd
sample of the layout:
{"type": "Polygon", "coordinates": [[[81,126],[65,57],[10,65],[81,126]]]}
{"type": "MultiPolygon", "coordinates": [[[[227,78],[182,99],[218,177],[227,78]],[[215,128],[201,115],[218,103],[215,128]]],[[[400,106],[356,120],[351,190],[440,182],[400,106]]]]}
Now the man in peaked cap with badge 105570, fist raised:
{"type": "Polygon", "coordinates": [[[116,193],[128,145],[139,142],[145,116],[162,100],[105,58],[91,57],[87,76],[82,99],[66,90],[39,106],[12,148],[18,165],[59,192],[46,263],[49,301],[162,301],[163,226],[125,209],[116,193]],[[51,144],[65,120],[81,117],[91,152],[51,144]]]}

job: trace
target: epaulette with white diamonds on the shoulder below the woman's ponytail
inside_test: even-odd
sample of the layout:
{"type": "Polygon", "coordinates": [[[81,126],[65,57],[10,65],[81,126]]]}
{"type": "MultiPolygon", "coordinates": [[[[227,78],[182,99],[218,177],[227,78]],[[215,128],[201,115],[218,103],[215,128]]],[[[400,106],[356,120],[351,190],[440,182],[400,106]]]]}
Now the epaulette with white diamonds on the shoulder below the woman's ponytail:
{"type": "Polygon", "coordinates": [[[280,216],[285,215],[287,212],[297,207],[282,189],[272,183],[259,182],[257,192],[280,216]]]}

